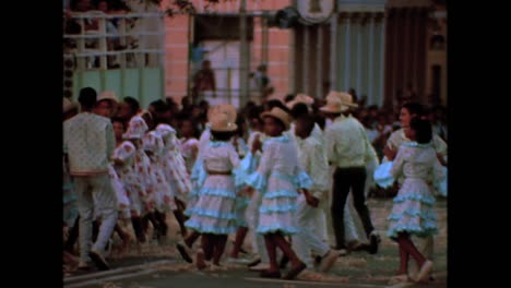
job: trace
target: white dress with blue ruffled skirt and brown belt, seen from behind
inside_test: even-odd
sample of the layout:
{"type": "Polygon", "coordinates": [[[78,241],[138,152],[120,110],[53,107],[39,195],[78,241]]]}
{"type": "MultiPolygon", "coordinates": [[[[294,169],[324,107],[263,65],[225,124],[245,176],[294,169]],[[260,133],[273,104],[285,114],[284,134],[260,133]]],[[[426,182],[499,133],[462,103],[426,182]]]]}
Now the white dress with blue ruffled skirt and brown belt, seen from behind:
{"type": "MultiPolygon", "coordinates": [[[[211,171],[231,171],[239,165],[239,156],[228,142],[210,142],[201,153],[203,168],[211,171]]],[[[236,231],[236,185],[233,175],[209,175],[201,184],[199,200],[188,209],[191,215],[185,225],[201,233],[228,235],[236,231]]]]}

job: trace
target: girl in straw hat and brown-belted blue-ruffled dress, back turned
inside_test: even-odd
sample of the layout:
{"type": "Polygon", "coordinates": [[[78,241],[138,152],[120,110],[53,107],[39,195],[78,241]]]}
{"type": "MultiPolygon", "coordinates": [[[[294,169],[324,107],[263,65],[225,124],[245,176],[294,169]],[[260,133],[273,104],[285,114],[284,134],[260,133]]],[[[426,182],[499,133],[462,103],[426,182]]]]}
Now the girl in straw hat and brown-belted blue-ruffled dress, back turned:
{"type": "Polygon", "coordinates": [[[202,235],[201,248],[197,253],[197,267],[205,268],[205,260],[213,259],[212,268],[219,268],[227,236],[236,231],[236,185],[233,169],[239,164],[239,156],[229,140],[237,125],[226,113],[212,116],[212,141],[201,152],[202,167],[206,178],[201,187],[199,201],[191,208],[186,226],[202,235]]]}

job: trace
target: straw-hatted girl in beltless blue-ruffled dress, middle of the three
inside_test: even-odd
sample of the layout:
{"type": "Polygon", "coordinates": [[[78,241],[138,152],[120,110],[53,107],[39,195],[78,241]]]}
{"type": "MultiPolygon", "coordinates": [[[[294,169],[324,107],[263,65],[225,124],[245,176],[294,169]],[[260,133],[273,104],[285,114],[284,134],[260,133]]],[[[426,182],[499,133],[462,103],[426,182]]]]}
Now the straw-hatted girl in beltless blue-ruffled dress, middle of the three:
{"type": "MultiPolygon", "coordinates": [[[[312,180],[298,163],[293,140],[283,134],[289,129],[289,116],[283,109],[274,107],[261,117],[269,139],[262,147],[263,154],[257,171],[246,179],[247,184],[263,195],[257,232],[264,235],[270,268],[260,275],[281,278],[276,261],[278,247],[292,263],[292,268],[284,278],[294,279],[306,268],[306,264],[298,259],[285,236],[298,232],[295,217],[298,191],[308,193],[306,189],[312,184],[312,180]]],[[[255,146],[252,152],[257,149],[255,146]]]]}

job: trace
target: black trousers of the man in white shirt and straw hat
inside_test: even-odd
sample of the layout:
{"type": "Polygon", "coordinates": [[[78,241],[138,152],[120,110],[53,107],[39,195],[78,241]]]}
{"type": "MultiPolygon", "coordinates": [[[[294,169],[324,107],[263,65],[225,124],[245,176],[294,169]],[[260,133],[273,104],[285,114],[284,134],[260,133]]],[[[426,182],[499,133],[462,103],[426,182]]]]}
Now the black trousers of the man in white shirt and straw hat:
{"type": "Polygon", "coordinates": [[[344,239],[344,206],[349,190],[353,193],[354,206],[360,216],[364,225],[364,230],[367,237],[375,227],[371,223],[369,209],[366,205],[366,196],[364,195],[364,188],[366,184],[366,168],[365,167],[349,167],[336,168],[333,176],[332,188],[332,224],[335,233],[335,248],[346,248],[344,239]]]}

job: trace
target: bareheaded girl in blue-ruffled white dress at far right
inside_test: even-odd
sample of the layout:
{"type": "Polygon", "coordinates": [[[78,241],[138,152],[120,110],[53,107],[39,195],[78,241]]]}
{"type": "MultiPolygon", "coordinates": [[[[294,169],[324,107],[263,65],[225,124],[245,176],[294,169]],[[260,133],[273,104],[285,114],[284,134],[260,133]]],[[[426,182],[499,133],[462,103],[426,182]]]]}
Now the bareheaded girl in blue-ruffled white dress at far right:
{"type": "Polygon", "coordinates": [[[399,275],[392,281],[408,279],[409,255],[420,267],[415,280],[423,281],[428,278],[432,262],[417,250],[411,236],[428,237],[437,232],[435,196],[428,184],[431,181],[442,181],[445,175],[430,144],[431,124],[426,120],[414,118],[405,133],[411,142],[400,146],[390,170],[394,179],[404,177],[404,182],[393,200],[391,215],[388,217],[387,235],[397,241],[401,260],[399,275]]]}

